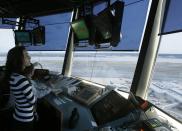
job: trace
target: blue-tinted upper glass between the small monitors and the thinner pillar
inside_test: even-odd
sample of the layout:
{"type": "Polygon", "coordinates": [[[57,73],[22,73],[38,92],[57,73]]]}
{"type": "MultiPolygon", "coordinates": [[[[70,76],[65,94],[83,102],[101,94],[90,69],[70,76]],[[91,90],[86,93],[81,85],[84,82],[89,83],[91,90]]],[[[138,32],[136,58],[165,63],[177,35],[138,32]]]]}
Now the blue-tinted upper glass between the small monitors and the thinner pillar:
{"type": "MultiPolygon", "coordinates": [[[[29,46],[33,51],[64,51],[66,49],[70,27],[71,12],[35,18],[40,25],[45,26],[45,45],[29,46]]],[[[36,25],[27,24],[26,29],[34,29],[36,25]]]]}

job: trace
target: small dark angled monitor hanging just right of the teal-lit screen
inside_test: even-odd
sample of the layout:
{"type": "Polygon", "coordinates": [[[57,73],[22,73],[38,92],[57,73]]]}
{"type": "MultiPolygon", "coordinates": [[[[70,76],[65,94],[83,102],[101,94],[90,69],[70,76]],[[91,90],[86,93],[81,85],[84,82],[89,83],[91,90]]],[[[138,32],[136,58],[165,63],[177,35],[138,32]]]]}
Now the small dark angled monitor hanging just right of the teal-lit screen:
{"type": "Polygon", "coordinates": [[[38,26],[32,30],[33,45],[45,44],[45,27],[38,26]]]}

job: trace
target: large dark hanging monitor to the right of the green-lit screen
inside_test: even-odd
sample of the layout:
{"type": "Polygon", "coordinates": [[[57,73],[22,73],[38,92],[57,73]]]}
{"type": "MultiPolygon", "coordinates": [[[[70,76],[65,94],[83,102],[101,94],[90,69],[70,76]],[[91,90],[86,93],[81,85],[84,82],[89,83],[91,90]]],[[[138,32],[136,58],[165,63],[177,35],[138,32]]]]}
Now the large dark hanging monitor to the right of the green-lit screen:
{"type": "Polygon", "coordinates": [[[110,43],[116,47],[120,42],[121,24],[124,11],[124,2],[116,1],[96,16],[92,17],[90,39],[92,44],[110,43]]]}

